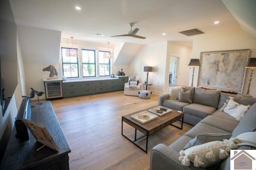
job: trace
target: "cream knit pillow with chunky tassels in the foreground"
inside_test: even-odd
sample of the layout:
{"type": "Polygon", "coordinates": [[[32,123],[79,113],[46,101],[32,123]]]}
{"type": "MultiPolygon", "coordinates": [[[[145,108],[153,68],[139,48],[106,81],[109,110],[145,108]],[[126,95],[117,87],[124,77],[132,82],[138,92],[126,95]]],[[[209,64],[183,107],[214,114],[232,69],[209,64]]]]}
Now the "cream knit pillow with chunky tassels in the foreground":
{"type": "Polygon", "coordinates": [[[185,166],[190,166],[192,162],[196,167],[207,168],[227,158],[230,149],[237,148],[237,143],[239,143],[237,138],[230,138],[197,145],[181,150],[179,160],[185,166]]]}

